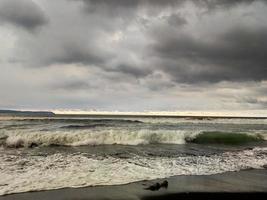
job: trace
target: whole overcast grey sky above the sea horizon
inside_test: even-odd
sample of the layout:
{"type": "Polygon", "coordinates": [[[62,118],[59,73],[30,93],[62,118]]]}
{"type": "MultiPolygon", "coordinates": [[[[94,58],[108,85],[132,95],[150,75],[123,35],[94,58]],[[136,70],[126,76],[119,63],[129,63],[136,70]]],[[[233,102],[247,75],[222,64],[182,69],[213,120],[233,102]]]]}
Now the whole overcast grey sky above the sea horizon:
{"type": "Polygon", "coordinates": [[[0,0],[0,108],[267,110],[265,0],[0,0]]]}

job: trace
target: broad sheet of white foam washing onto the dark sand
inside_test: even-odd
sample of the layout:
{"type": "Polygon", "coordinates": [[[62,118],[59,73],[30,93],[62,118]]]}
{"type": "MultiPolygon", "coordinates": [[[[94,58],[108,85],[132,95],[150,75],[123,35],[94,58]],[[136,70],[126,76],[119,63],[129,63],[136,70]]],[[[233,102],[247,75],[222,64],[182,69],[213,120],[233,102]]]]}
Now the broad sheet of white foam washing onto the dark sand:
{"type": "Polygon", "coordinates": [[[267,148],[212,156],[86,157],[0,154],[0,195],[63,187],[124,184],[174,175],[209,175],[267,164],[267,148]]]}

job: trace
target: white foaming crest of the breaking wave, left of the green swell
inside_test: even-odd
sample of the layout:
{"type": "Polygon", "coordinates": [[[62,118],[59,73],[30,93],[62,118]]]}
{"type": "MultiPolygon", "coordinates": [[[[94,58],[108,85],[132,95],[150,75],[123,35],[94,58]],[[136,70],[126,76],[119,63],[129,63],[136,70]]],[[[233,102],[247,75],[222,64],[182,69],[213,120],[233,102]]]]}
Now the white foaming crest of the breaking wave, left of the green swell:
{"type": "Polygon", "coordinates": [[[48,131],[48,132],[12,132],[6,139],[7,147],[28,147],[31,144],[49,146],[81,146],[81,145],[102,145],[102,144],[184,144],[186,137],[194,137],[198,132],[181,130],[103,130],[103,131],[48,131]]]}

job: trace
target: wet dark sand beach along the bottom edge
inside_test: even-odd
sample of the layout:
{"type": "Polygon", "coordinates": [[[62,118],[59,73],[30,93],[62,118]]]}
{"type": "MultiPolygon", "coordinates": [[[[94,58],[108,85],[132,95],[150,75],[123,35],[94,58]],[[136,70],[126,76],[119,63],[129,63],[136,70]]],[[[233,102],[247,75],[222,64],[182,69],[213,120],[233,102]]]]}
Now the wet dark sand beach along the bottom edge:
{"type": "MultiPolygon", "coordinates": [[[[1,196],[1,200],[26,199],[175,199],[178,197],[194,199],[210,193],[210,197],[231,195],[252,197],[267,193],[267,170],[254,169],[240,172],[227,172],[209,176],[175,176],[153,181],[140,181],[126,185],[96,186],[84,188],[63,188],[48,191],[26,192],[1,196]],[[167,189],[158,191],[144,188],[168,180],[167,189]],[[255,193],[256,192],[256,193],[255,193]],[[211,194],[212,193],[212,194],[211,194]],[[224,194],[221,194],[224,193],[224,194]]],[[[265,196],[265,195],[264,195],[265,196]]]]}

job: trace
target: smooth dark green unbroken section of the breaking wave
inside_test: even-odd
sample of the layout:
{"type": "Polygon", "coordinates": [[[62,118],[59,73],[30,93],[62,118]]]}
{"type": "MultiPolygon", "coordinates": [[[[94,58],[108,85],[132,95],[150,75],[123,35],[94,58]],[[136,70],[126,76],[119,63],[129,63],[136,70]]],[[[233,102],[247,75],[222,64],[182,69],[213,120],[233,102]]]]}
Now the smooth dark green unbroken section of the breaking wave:
{"type": "Polygon", "coordinates": [[[198,144],[245,144],[263,141],[260,134],[229,133],[229,132],[203,132],[196,137],[186,138],[187,142],[198,144]]]}

